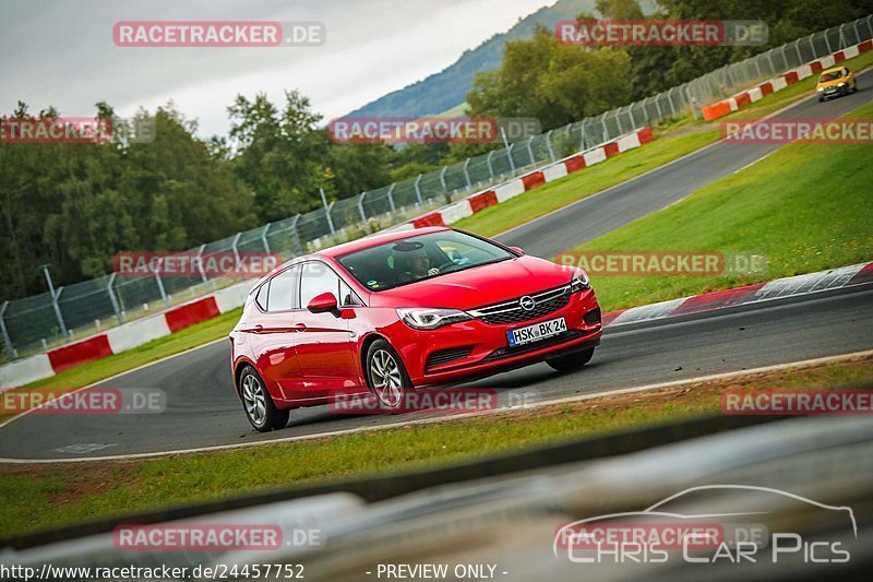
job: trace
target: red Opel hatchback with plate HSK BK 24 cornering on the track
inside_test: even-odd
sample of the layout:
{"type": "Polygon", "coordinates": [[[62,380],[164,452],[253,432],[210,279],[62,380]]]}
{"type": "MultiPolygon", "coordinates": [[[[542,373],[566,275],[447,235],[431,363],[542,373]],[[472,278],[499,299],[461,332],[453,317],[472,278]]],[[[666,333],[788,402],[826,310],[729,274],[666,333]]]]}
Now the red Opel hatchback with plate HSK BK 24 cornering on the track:
{"type": "Polygon", "coordinates": [[[416,387],[543,360],[579,368],[600,334],[584,271],[432,227],[284,264],[251,290],[230,342],[246,415],[268,431],[337,394],[392,409],[416,387]]]}

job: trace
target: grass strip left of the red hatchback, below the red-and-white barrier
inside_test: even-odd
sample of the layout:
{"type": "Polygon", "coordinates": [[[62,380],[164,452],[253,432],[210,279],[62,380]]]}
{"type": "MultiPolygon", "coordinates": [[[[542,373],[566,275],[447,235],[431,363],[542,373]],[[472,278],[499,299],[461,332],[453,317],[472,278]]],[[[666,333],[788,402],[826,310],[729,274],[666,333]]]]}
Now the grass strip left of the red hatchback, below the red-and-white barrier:
{"type": "MultiPolygon", "coordinates": [[[[32,382],[15,390],[51,389],[53,393],[61,393],[93,384],[117,373],[125,372],[186,349],[213,342],[219,337],[225,337],[239,321],[241,314],[242,308],[235,309],[211,320],[195,323],[171,335],[153,340],[140,347],[63,370],[51,378],[32,382]]],[[[0,414],[0,421],[10,416],[0,414]]]]}

